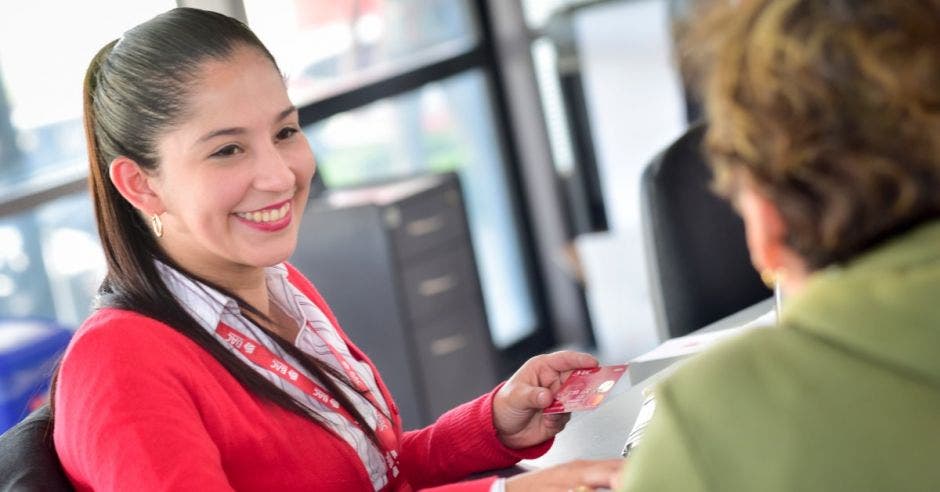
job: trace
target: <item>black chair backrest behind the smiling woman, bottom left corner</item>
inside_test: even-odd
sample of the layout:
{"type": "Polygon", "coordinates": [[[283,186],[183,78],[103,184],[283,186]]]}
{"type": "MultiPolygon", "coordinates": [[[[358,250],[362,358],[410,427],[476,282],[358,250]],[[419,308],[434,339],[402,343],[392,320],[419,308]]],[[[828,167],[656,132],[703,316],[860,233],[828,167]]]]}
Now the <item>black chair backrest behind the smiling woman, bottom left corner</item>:
{"type": "Polygon", "coordinates": [[[48,405],[0,435],[0,492],[71,490],[52,444],[48,405]]]}

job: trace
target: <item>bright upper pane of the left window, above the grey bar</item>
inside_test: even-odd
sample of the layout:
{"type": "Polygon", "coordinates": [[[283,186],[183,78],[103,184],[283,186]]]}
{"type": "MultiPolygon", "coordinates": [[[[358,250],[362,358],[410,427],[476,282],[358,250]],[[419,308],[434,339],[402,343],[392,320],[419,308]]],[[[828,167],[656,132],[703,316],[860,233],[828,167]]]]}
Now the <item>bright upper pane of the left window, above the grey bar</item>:
{"type": "Polygon", "coordinates": [[[80,116],[88,62],[124,30],[175,6],[172,0],[0,3],[0,188],[87,165],[80,116]]]}

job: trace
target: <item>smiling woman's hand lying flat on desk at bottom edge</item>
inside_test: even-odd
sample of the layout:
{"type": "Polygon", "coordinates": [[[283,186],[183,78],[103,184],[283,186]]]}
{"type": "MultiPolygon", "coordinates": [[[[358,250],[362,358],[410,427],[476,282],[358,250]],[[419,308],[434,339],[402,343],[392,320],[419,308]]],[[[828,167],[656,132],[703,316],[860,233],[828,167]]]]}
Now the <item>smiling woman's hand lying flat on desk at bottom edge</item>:
{"type": "Polygon", "coordinates": [[[614,488],[624,460],[572,461],[506,479],[506,492],[587,492],[614,488]]]}

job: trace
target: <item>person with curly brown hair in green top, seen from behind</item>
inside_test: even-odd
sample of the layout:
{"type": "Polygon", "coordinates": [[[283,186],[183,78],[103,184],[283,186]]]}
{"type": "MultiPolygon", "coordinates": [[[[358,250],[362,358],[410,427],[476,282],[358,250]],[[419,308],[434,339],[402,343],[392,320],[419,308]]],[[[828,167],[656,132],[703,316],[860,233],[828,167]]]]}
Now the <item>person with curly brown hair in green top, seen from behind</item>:
{"type": "Polygon", "coordinates": [[[937,490],[940,2],[702,8],[715,188],[784,305],[656,387],[618,490],[937,490]]]}

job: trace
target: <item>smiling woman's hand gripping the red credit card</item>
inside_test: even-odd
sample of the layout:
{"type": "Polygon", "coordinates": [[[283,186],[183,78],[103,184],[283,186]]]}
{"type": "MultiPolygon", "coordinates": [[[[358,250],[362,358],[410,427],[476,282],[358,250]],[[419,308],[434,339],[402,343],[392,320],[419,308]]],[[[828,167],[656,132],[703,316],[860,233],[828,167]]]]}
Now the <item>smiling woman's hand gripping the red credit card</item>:
{"type": "Polygon", "coordinates": [[[499,440],[521,449],[545,442],[561,432],[570,414],[543,415],[568,374],[597,366],[597,359],[579,352],[537,355],[522,365],[493,398],[493,424],[499,440]]]}

